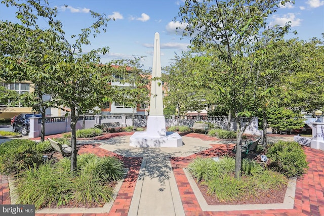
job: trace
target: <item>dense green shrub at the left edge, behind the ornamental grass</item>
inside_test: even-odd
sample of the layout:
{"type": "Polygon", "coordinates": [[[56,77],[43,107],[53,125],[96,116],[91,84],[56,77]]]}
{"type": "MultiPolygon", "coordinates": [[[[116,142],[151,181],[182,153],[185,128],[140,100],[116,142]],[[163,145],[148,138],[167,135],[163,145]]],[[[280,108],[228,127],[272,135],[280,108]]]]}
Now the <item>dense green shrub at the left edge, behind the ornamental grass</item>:
{"type": "Polygon", "coordinates": [[[42,154],[36,149],[37,143],[31,140],[14,139],[0,145],[0,172],[17,174],[22,169],[42,163],[42,154]]]}

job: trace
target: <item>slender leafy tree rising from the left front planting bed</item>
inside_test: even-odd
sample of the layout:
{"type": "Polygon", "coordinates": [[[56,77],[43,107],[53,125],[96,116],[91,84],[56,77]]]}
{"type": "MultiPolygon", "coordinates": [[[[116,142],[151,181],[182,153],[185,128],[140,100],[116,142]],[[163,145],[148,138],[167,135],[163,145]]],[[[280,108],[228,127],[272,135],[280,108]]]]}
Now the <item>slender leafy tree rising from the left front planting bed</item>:
{"type": "MultiPolygon", "coordinates": [[[[17,80],[21,77],[30,78],[33,70],[35,72],[33,75],[36,79],[41,77],[49,78],[46,80],[46,84],[51,92],[53,102],[58,106],[64,105],[71,109],[71,170],[74,171],[76,169],[77,155],[75,135],[75,125],[78,120],[77,113],[92,109],[99,102],[108,101],[109,97],[113,94],[113,88],[110,88],[108,85],[108,82],[112,80],[112,73],[125,72],[123,67],[120,69],[111,67],[112,62],[108,63],[108,65],[100,64],[99,54],[107,54],[109,48],[98,48],[88,53],[83,53],[82,50],[84,45],[91,44],[89,36],[95,37],[100,31],[106,31],[105,27],[110,19],[106,18],[105,15],[91,11],[91,15],[96,21],[89,28],[82,29],[78,35],[72,35],[71,37],[76,39],[74,44],[70,45],[62,29],[62,23],[54,20],[57,16],[56,8],[51,8],[47,1],[29,0],[19,4],[19,1],[6,0],[3,3],[8,7],[10,5],[18,9],[16,17],[24,25],[21,26],[13,23],[7,25],[8,31],[12,31],[14,35],[9,37],[8,40],[5,39],[8,42],[7,47],[9,48],[13,46],[13,39],[17,34],[14,30],[18,29],[20,31],[23,29],[24,34],[22,34],[23,38],[20,44],[24,48],[30,46],[29,37],[33,36],[30,33],[41,32],[36,24],[38,17],[42,17],[49,24],[49,29],[45,30],[46,37],[45,34],[42,34],[44,47],[38,49],[39,46],[37,46],[36,50],[39,50],[40,53],[37,55],[39,59],[37,59],[35,64],[32,64],[32,61],[30,61],[34,53],[28,49],[23,49],[22,51],[26,51],[26,54],[32,54],[26,57],[25,53],[21,52],[19,47],[17,47],[17,49],[14,49],[14,52],[1,59],[0,65],[2,66],[2,73],[8,74],[8,79],[10,78],[11,80],[17,80]],[[33,29],[30,27],[33,27],[33,29]],[[49,52],[52,53],[45,53],[44,48],[48,48],[49,52]],[[38,65],[38,62],[46,62],[46,64],[38,65]],[[39,70],[39,68],[44,69],[44,71],[39,70]]],[[[40,42],[32,41],[36,44],[40,42]]],[[[2,52],[10,50],[9,48],[3,49],[2,52]]]]}

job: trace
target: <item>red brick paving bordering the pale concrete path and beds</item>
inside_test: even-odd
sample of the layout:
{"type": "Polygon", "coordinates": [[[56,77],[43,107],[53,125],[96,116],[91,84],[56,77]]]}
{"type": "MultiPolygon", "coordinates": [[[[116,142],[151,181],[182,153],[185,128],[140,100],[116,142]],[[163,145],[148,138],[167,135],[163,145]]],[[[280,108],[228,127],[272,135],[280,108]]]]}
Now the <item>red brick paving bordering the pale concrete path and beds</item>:
{"type": "MultiPolygon", "coordinates": [[[[102,136],[100,139],[109,139],[116,136],[126,136],[131,133],[114,133],[102,136]]],[[[203,140],[216,140],[216,138],[208,137],[202,134],[190,133],[185,136],[200,138],[203,140]]],[[[57,137],[57,136],[51,136],[57,137]]],[[[94,140],[95,143],[95,140],[94,140]]],[[[193,190],[184,174],[183,167],[190,160],[200,154],[209,156],[220,156],[230,153],[233,145],[211,145],[210,149],[203,152],[193,154],[189,157],[173,157],[170,158],[173,167],[175,179],[180,192],[181,201],[186,215],[324,215],[324,152],[309,147],[303,147],[309,169],[303,178],[297,180],[296,195],[294,209],[268,209],[268,210],[228,210],[228,211],[203,211],[201,210],[193,190]]],[[[92,152],[99,156],[114,155],[123,160],[129,168],[128,174],[121,186],[113,206],[109,213],[74,213],[74,214],[36,214],[37,216],[100,216],[100,215],[127,215],[134,193],[142,158],[140,157],[124,157],[116,155],[112,152],[99,148],[99,144],[82,145],[78,149],[78,153],[92,152]]],[[[0,176],[0,203],[10,204],[10,191],[8,186],[8,178],[0,176]]]]}

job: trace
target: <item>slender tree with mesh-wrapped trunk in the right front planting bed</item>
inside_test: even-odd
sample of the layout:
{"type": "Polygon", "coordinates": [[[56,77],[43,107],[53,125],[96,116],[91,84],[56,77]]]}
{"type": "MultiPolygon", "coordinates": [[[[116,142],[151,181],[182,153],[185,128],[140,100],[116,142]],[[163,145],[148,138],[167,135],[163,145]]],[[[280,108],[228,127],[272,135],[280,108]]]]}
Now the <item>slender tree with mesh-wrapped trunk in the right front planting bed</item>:
{"type": "MultiPolygon", "coordinates": [[[[215,73],[206,75],[218,82],[215,85],[219,86],[230,113],[235,117],[237,152],[241,151],[242,134],[250,122],[241,126],[240,117],[251,119],[257,106],[254,97],[256,77],[251,73],[245,57],[252,52],[250,44],[257,40],[261,29],[266,27],[267,17],[280,4],[288,2],[291,1],[186,0],[184,6],[180,7],[179,17],[186,24],[183,36],[192,37],[191,45],[195,49],[210,49],[217,55],[219,62],[214,61],[217,64],[214,65],[217,66],[215,73]]],[[[236,154],[236,178],[240,177],[240,166],[241,154],[236,154]]]]}

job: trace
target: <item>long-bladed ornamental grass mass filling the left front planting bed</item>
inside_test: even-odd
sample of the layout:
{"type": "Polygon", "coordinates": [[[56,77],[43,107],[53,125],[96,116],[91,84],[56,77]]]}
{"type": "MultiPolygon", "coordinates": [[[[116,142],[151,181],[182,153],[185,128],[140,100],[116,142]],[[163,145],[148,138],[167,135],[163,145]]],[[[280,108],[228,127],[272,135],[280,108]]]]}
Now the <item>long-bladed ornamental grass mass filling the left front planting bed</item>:
{"type": "Polygon", "coordinates": [[[114,196],[111,183],[124,177],[124,163],[95,154],[78,155],[77,161],[73,173],[68,158],[20,172],[15,181],[17,204],[33,203],[39,209],[66,204],[99,207],[110,202],[114,196]]]}

